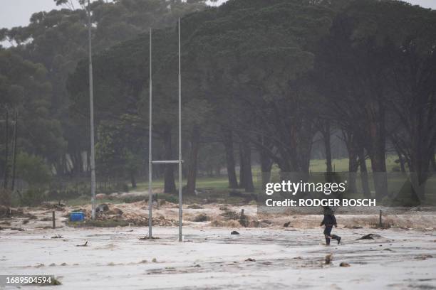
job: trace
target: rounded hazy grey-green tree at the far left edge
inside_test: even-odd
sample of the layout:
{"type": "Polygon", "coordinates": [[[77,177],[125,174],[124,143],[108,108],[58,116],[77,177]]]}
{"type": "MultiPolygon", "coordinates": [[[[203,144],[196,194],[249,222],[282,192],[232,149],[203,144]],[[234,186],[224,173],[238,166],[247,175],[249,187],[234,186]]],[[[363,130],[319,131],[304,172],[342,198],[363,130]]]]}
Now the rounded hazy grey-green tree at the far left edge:
{"type": "Polygon", "coordinates": [[[55,161],[66,142],[61,124],[50,114],[45,68],[9,50],[0,50],[0,64],[0,103],[19,112],[19,149],[55,161]]]}

